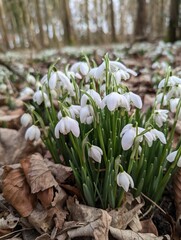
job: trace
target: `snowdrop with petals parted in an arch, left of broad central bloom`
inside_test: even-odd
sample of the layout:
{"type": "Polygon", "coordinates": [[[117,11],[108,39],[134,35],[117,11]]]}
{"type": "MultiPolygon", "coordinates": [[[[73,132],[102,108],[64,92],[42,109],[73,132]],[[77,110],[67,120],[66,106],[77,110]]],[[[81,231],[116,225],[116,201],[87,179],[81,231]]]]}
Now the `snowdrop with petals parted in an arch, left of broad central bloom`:
{"type": "MultiPolygon", "coordinates": [[[[99,93],[97,93],[93,89],[87,90],[86,93],[91,96],[91,98],[94,100],[94,102],[97,104],[98,107],[101,107],[101,97],[99,93]]],[[[86,94],[83,94],[80,102],[81,107],[84,107],[85,105],[87,105],[88,101],[89,101],[89,96],[87,96],[86,94]]]]}

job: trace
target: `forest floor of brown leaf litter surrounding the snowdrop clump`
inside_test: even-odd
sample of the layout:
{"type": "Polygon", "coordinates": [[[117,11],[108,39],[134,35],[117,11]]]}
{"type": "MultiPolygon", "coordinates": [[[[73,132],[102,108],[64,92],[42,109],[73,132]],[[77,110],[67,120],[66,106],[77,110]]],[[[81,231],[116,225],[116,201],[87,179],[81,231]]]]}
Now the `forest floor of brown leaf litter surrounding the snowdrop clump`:
{"type": "MultiPolygon", "coordinates": [[[[156,44],[118,44],[101,47],[85,46],[83,48],[66,47],[60,50],[49,49],[41,52],[36,52],[35,50],[20,50],[0,54],[0,239],[68,239],[66,234],[69,230],[76,230],[85,226],[86,218],[82,218],[82,221],[79,220],[79,222],[67,221],[65,224],[65,219],[68,219],[67,209],[61,209],[60,211],[60,209],[57,209],[56,204],[53,205],[51,212],[47,210],[48,213],[45,213],[43,211],[38,212],[37,210],[37,212],[34,212],[34,215],[31,214],[31,216],[29,216],[28,208],[31,208],[31,206],[27,205],[21,199],[25,198],[26,201],[26,198],[29,198],[27,192],[25,195],[21,195],[20,189],[26,188],[22,183],[22,179],[18,180],[18,187],[20,189],[9,189],[14,195],[14,199],[12,200],[13,196],[11,196],[10,201],[3,198],[3,179],[4,176],[7,177],[12,169],[19,169],[20,160],[28,156],[31,156],[31,158],[38,157],[39,160],[42,160],[42,156],[46,159],[51,159],[49,152],[41,141],[32,144],[24,140],[25,129],[21,127],[20,117],[25,112],[24,103],[32,99],[32,95],[27,94],[25,91],[26,87],[32,87],[26,81],[27,75],[31,74],[41,79],[47,73],[50,65],[58,58],[60,59],[56,66],[59,70],[63,70],[67,63],[71,65],[76,61],[80,61],[83,54],[86,54],[89,59],[94,59],[97,64],[100,64],[102,57],[107,52],[109,53],[110,59],[116,60],[119,58],[127,67],[134,69],[138,73],[138,76],[131,78],[127,84],[134,93],[141,96],[144,103],[143,110],[152,106],[156,86],[158,82],[165,77],[166,69],[169,65],[172,67],[173,74],[181,77],[181,42],[175,44],[160,42],[156,44]],[[37,152],[39,155],[32,155],[37,152]],[[14,201],[16,202],[16,210],[12,207],[14,201]]],[[[181,124],[177,128],[175,142],[177,142],[180,135],[181,124]]],[[[63,169],[64,176],[62,177],[59,176],[58,172],[61,166],[58,166],[56,170],[55,164],[46,164],[46,168],[52,164],[51,169],[53,169],[54,175],[56,175],[57,178],[63,178],[59,186],[65,190],[66,194],[73,196],[77,193],[77,189],[70,187],[70,183],[67,184],[67,179],[68,181],[72,181],[70,169],[63,169]]],[[[12,174],[9,181],[17,180],[17,175],[14,176],[14,178],[13,176],[12,174]]],[[[180,225],[178,227],[178,223],[180,224],[178,218],[180,216],[178,216],[178,210],[174,203],[173,186],[174,185],[170,183],[167,187],[162,201],[159,204],[159,208],[155,207],[155,210],[141,221],[141,231],[139,228],[140,221],[136,220],[142,207],[142,205],[140,205],[141,203],[139,203],[137,204],[137,210],[135,210],[136,215],[131,211],[124,212],[124,215],[127,214],[127,218],[134,219],[135,224],[131,226],[129,225],[131,220],[122,219],[122,225],[124,227],[118,233],[116,232],[113,233],[112,236],[110,235],[110,239],[179,239],[181,231],[179,232],[178,230],[180,228],[180,225]],[[128,232],[125,233],[124,231],[128,232]]],[[[63,198],[65,198],[65,196],[61,195],[60,201],[62,201],[63,198]]],[[[133,200],[131,201],[133,202],[133,200]]],[[[84,207],[85,206],[79,204],[73,197],[68,200],[67,208],[71,214],[76,212],[81,215],[87,211],[88,213],[94,214],[94,221],[105,218],[103,211],[94,212],[94,209],[84,209],[84,207]],[[81,213],[78,213],[78,211],[81,213]]],[[[107,223],[105,222],[104,224],[106,225],[107,223]]],[[[84,232],[86,229],[82,231],[84,232]]],[[[70,234],[70,236],[72,236],[70,238],[86,239],[85,237],[75,238],[78,235],[76,235],[75,231],[74,234],[75,235],[70,234]]],[[[95,239],[104,239],[98,236],[96,237],[96,234],[94,237],[95,239]]]]}

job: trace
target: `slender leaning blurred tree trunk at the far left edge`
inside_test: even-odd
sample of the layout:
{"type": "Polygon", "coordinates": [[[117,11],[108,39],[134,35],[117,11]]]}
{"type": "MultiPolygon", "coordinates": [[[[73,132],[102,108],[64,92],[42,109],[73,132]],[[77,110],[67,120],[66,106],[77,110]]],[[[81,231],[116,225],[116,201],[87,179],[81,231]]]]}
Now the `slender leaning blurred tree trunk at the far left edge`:
{"type": "Polygon", "coordinates": [[[3,37],[3,42],[5,44],[6,48],[9,48],[9,41],[8,41],[8,34],[7,34],[7,28],[6,28],[6,24],[5,24],[5,15],[4,15],[4,8],[3,8],[3,2],[2,0],[0,0],[0,26],[1,26],[1,34],[3,37]]]}

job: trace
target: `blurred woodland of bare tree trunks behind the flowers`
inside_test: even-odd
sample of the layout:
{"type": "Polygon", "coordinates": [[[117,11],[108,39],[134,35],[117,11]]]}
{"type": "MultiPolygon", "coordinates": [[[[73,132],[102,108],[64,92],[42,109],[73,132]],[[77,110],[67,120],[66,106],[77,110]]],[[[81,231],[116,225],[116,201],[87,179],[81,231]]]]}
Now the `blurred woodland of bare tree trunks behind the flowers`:
{"type": "Polygon", "coordinates": [[[0,0],[0,51],[181,39],[181,0],[0,0]]]}

